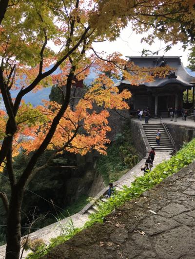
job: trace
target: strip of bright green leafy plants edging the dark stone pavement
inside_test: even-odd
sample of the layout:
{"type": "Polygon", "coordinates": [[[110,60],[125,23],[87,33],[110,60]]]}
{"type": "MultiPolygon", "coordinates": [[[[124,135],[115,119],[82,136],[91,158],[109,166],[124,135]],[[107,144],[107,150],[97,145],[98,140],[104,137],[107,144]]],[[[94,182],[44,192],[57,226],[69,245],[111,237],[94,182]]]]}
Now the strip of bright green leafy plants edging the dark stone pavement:
{"type": "Polygon", "coordinates": [[[73,237],[76,233],[86,227],[92,226],[96,222],[103,223],[103,219],[106,215],[111,213],[114,208],[123,205],[125,202],[139,197],[144,191],[153,188],[156,184],[160,183],[163,179],[167,178],[173,173],[177,173],[181,168],[186,167],[190,163],[195,161],[195,138],[185,144],[183,148],[172,156],[168,161],[162,162],[157,165],[156,168],[143,176],[137,177],[132,183],[131,187],[124,186],[122,191],[117,191],[114,197],[110,198],[107,202],[103,203],[98,201],[98,212],[90,215],[89,221],[82,228],[74,228],[72,226],[70,232],[67,235],[60,236],[51,241],[47,250],[39,255],[33,255],[31,258],[39,258],[48,251],[50,251],[57,244],[63,243],[73,237]]]}

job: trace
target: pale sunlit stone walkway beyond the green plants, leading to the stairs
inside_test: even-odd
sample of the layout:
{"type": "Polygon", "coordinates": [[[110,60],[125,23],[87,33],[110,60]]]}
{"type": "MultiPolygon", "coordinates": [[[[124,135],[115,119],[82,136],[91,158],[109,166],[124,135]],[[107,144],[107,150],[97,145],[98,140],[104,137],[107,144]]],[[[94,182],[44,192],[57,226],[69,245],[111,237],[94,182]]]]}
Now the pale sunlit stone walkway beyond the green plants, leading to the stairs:
{"type": "MultiPolygon", "coordinates": [[[[156,152],[153,169],[155,168],[155,166],[157,164],[161,163],[163,160],[168,160],[170,157],[171,157],[171,155],[169,154],[169,152],[156,152]]],[[[117,188],[122,189],[123,185],[130,186],[136,176],[143,175],[143,172],[140,170],[140,167],[145,164],[145,160],[146,160],[146,158],[142,159],[134,168],[132,168],[125,175],[123,175],[116,182],[117,188]]],[[[88,215],[77,213],[77,214],[71,216],[71,219],[74,223],[74,226],[81,227],[88,220],[88,215]]],[[[54,224],[48,225],[46,227],[43,227],[43,228],[31,233],[30,238],[32,238],[32,239],[42,238],[44,240],[44,242],[49,243],[51,238],[57,237],[62,233],[62,231],[63,231],[62,226],[66,225],[68,222],[70,222],[70,218],[61,220],[60,223],[54,223],[54,224]]],[[[23,257],[25,258],[28,253],[29,252],[24,252],[23,257]]],[[[0,259],[4,259],[4,255],[5,255],[5,245],[0,246],[0,259]]]]}

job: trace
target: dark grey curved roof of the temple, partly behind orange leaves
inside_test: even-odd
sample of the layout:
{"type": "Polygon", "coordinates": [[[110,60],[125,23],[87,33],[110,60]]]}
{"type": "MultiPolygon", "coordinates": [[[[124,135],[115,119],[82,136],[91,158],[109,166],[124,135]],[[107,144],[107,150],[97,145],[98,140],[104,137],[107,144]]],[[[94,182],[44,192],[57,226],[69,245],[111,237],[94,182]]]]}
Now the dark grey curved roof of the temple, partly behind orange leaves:
{"type": "MultiPolygon", "coordinates": [[[[159,66],[159,58],[164,60],[167,65],[174,68],[176,73],[176,78],[157,78],[153,82],[145,83],[145,86],[156,87],[164,86],[170,83],[177,83],[183,86],[195,85],[195,77],[191,76],[181,63],[180,57],[178,56],[148,56],[148,57],[129,57],[129,61],[133,61],[135,65],[139,67],[156,67],[159,66]]],[[[131,84],[127,80],[122,80],[121,83],[131,84]]]]}

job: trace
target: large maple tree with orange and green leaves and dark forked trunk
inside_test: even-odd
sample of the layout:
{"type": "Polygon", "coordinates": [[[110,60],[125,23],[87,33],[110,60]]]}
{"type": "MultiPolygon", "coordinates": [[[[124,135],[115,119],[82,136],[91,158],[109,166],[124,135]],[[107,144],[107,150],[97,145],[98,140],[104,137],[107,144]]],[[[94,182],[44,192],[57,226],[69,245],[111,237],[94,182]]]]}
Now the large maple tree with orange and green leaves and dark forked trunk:
{"type": "MultiPolygon", "coordinates": [[[[179,0],[0,0],[0,91],[6,108],[6,113],[0,114],[0,164],[6,167],[11,187],[10,201],[0,192],[7,211],[6,259],[19,258],[23,193],[33,175],[39,172],[36,163],[43,152],[48,148],[54,150],[53,155],[62,150],[83,155],[95,148],[105,153],[109,141],[106,132],[110,130],[107,109],[127,108],[123,99],[129,98],[130,93],[119,93],[105,74],[98,76],[75,109],[69,106],[72,86],[86,77],[91,65],[117,79],[123,74],[137,85],[140,81],[153,80],[154,76],[165,76],[170,70],[140,69],[133,63],[126,64],[118,53],[104,59],[94,50],[93,42],[115,40],[128,22],[132,22],[137,32],[153,26],[159,28],[158,17],[163,17],[167,10],[163,23],[172,30],[167,22],[170,16],[179,13],[187,19],[184,11],[193,9],[192,3],[190,0],[184,3],[179,0]],[[57,50],[52,48],[54,45],[57,50]],[[34,108],[22,103],[30,91],[52,83],[58,84],[64,93],[61,105],[46,103],[44,108],[34,108]],[[19,90],[15,99],[11,90],[19,90]],[[93,110],[93,103],[103,109],[93,110]],[[33,139],[26,141],[23,136],[33,139]],[[13,156],[21,147],[26,152],[34,150],[34,154],[16,180],[13,156]]],[[[189,36],[188,29],[184,28],[186,35],[177,34],[177,39],[184,41],[189,36]]],[[[176,43],[176,36],[164,37],[157,31],[160,30],[154,35],[176,43]]],[[[176,34],[180,28],[170,32],[176,34]]]]}

